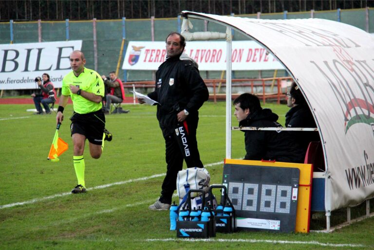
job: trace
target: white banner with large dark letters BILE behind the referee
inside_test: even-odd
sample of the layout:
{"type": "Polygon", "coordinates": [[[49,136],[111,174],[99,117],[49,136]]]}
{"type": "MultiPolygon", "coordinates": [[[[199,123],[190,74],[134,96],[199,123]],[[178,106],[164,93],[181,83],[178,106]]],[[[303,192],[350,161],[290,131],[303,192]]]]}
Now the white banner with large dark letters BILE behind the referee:
{"type": "Polygon", "coordinates": [[[34,79],[43,73],[61,88],[71,71],[69,55],[81,47],[82,40],[0,44],[0,89],[34,89],[34,79]]]}

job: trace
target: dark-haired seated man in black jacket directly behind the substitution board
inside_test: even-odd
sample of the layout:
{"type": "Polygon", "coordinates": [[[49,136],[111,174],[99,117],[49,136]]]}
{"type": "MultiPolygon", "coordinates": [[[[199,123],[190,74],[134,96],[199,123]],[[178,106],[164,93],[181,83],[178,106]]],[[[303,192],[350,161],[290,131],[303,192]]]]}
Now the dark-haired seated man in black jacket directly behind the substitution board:
{"type": "MultiPolygon", "coordinates": [[[[281,127],[278,115],[271,109],[262,109],[257,96],[244,93],[234,100],[235,113],[239,126],[281,127]]],[[[243,130],[245,142],[244,160],[256,161],[304,161],[299,145],[285,131],[243,130]]]]}

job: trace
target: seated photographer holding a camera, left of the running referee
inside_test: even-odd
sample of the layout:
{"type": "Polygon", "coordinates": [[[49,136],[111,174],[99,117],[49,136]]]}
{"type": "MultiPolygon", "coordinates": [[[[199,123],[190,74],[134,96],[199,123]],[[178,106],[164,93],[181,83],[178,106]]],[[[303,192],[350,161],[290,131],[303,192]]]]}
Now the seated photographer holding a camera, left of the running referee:
{"type": "Polygon", "coordinates": [[[32,93],[31,96],[34,97],[34,104],[37,108],[37,112],[35,115],[42,115],[43,108],[41,107],[40,103],[43,105],[45,113],[50,114],[52,113],[49,104],[54,103],[56,101],[56,91],[55,87],[53,86],[52,82],[49,80],[49,74],[44,73],[42,75],[43,84],[41,83],[41,78],[37,76],[35,78],[35,82],[37,83],[38,87],[40,88],[39,93],[32,93]]]}

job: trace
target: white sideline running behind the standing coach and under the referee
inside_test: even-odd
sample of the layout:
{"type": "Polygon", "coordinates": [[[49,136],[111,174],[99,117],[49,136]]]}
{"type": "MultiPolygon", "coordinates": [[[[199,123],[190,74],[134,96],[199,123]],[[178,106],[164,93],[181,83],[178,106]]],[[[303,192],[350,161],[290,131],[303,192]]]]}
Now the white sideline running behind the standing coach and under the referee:
{"type": "MultiPolygon", "coordinates": [[[[223,161],[215,162],[215,163],[209,163],[209,164],[206,164],[205,167],[210,167],[210,166],[219,165],[219,164],[223,164],[223,163],[224,163],[223,161]]],[[[111,187],[111,186],[115,186],[115,185],[122,185],[122,184],[127,184],[127,183],[130,183],[130,182],[134,182],[134,181],[140,181],[140,180],[148,180],[148,179],[153,179],[153,178],[157,178],[157,177],[161,177],[161,176],[165,176],[165,175],[166,174],[157,174],[157,175],[142,177],[142,178],[138,178],[138,179],[129,179],[129,180],[124,180],[124,181],[118,181],[118,182],[113,182],[113,183],[100,185],[100,186],[96,186],[96,187],[92,187],[92,188],[87,188],[87,190],[90,191],[90,190],[94,190],[94,189],[103,189],[103,188],[107,188],[107,187],[111,187]]],[[[53,195],[53,196],[45,196],[45,197],[41,197],[41,198],[35,198],[35,199],[26,200],[26,201],[22,201],[22,202],[10,203],[10,204],[6,204],[6,205],[0,205],[0,209],[11,208],[11,207],[26,205],[26,204],[32,204],[32,203],[35,203],[35,202],[38,202],[38,201],[53,199],[53,198],[56,198],[56,197],[67,196],[67,195],[71,195],[71,192],[56,194],[56,195],[53,195]]]]}

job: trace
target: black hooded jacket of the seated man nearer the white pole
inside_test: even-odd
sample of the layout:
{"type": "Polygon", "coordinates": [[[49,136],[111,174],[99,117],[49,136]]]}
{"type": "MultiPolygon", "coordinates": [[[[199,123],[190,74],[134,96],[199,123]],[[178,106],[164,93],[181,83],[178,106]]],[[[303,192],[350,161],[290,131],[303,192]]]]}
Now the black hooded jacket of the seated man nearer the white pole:
{"type": "MultiPolygon", "coordinates": [[[[278,115],[264,108],[250,113],[239,126],[281,127],[278,115]]],[[[285,131],[243,130],[246,155],[244,160],[275,160],[298,162],[304,160],[299,144],[285,131]]]]}

